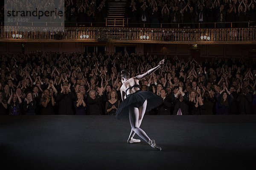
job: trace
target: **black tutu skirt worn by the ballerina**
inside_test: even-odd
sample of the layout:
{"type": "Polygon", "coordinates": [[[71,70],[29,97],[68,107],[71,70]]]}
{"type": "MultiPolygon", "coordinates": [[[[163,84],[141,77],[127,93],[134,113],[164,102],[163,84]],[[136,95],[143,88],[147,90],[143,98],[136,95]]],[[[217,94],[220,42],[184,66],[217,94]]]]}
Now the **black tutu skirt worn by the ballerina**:
{"type": "Polygon", "coordinates": [[[128,94],[126,99],[124,99],[116,110],[116,118],[128,118],[129,117],[129,107],[139,108],[147,99],[146,112],[151,111],[151,109],[163,103],[163,99],[160,96],[152,93],[151,91],[136,91],[133,94],[128,94]]]}

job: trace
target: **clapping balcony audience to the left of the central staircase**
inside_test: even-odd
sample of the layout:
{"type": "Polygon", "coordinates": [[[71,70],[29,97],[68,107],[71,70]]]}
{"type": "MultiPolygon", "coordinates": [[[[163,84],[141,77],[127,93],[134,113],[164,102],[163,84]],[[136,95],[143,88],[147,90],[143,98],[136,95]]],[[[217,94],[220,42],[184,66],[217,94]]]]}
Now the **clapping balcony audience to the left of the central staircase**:
{"type": "MultiPolygon", "coordinates": [[[[38,10],[41,11],[49,11],[51,7],[58,8],[63,6],[65,26],[90,26],[90,24],[86,25],[86,23],[105,22],[104,18],[107,17],[105,1],[106,0],[19,0],[21,3],[17,3],[16,0],[7,0],[6,9],[4,9],[3,4],[0,4],[0,21],[4,21],[4,10],[34,11],[38,8],[38,10]]],[[[60,22],[58,17],[56,18],[55,16],[47,20],[47,22],[49,21],[60,22]]],[[[36,23],[34,23],[33,26],[36,26],[36,23]]]]}

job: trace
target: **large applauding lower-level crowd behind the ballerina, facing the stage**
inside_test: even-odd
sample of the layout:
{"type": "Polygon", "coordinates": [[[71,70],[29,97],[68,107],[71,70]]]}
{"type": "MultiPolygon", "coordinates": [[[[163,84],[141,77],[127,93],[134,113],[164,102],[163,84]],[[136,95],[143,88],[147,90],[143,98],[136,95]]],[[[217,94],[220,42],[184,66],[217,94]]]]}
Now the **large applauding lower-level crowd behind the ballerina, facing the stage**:
{"type": "MultiPolygon", "coordinates": [[[[140,81],[163,98],[150,113],[205,115],[256,113],[256,63],[243,58],[167,58],[140,81]]],[[[161,58],[149,54],[0,54],[1,114],[115,115],[122,102],[119,72],[145,73],[161,58]],[[54,63],[56,63],[54,65],[54,63]]]]}

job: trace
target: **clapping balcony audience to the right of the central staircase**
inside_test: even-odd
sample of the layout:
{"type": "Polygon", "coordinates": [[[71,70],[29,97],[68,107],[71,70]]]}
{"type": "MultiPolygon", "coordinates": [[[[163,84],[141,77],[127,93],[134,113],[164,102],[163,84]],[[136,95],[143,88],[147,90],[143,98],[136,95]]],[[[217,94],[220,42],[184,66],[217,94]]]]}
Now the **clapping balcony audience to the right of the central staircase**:
{"type": "Polygon", "coordinates": [[[177,28],[177,23],[184,23],[181,28],[198,28],[198,24],[191,23],[209,23],[201,24],[200,28],[211,28],[214,24],[210,23],[218,23],[216,27],[225,28],[231,25],[224,22],[246,21],[253,22],[250,26],[256,25],[256,0],[130,0],[128,4],[130,23],[147,23],[145,27],[159,27],[163,23],[163,28],[177,28]]]}

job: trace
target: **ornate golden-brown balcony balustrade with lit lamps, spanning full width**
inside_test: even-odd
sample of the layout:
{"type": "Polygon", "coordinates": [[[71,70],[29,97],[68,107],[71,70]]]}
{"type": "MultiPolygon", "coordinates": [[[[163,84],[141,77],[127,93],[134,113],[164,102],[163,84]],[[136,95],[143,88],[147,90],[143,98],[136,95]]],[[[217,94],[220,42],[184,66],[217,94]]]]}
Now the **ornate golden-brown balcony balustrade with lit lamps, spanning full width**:
{"type": "MultiPolygon", "coordinates": [[[[13,26],[4,31],[1,41],[110,41],[143,43],[255,43],[256,27],[249,28],[117,28],[65,27],[64,31],[20,31],[25,27],[13,26]]],[[[42,28],[43,30],[43,28],[42,28]]]]}

